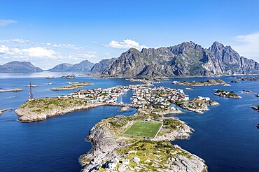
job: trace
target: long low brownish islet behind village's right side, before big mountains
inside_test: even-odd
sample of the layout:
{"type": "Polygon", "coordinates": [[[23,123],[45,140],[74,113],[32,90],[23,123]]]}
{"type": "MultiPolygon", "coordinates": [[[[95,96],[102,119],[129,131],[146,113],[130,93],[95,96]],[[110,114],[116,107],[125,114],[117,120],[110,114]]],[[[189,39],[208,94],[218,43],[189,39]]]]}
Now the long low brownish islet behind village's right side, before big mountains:
{"type": "Polygon", "coordinates": [[[225,81],[218,80],[207,80],[207,81],[181,81],[181,82],[173,82],[173,84],[178,85],[187,85],[187,86],[211,86],[211,85],[227,85],[225,81]]]}

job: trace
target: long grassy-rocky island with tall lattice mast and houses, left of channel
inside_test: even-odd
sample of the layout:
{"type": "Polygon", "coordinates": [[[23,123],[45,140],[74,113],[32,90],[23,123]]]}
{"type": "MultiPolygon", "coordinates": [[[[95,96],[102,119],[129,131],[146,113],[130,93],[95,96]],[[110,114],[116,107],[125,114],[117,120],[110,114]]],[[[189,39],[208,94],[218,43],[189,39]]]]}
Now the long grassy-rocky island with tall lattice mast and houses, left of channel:
{"type": "Polygon", "coordinates": [[[15,110],[15,113],[20,116],[19,122],[34,122],[74,110],[97,106],[117,106],[113,103],[116,103],[118,96],[129,90],[128,88],[118,86],[109,89],[85,89],[73,92],[68,96],[28,100],[15,110]]]}

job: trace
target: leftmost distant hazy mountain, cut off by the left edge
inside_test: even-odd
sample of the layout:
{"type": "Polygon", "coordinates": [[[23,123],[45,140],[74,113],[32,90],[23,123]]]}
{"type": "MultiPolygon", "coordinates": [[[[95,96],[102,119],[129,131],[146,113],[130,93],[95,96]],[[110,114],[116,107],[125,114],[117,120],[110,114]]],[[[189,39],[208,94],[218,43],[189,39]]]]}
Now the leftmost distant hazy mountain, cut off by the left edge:
{"type": "Polygon", "coordinates": [[[0,65],[0,72],[41,72],[42,69],[35,67],[31,62],[8,62],[0,65]]]}

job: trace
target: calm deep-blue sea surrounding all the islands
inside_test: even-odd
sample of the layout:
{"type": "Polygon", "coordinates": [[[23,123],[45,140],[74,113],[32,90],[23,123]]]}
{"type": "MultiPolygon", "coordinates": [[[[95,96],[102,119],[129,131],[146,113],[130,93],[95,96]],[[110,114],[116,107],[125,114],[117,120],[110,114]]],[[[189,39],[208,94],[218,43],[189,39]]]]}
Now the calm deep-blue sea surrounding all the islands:
{"type": "MultiPolygon", "coordinates": [[[[91,149],[85,141],[89,130],[100,120],[113,115],[132,115],[135,109],[120,113],[119,107],[98,107],[79,110],[59,117],[50,117],[41,122],[16,122],[14,110],[29,96],[29,81],[38,87],[33,88],[34,97],[59,96],[71,91],[50,91],[52,87],[66,85],[66,82],[91,82],[94,87],[137,84],[125,79],[100,79],[78,77],[75,79],[45,79],[46,76],[62,76],[71,73],[0,73],[1,89],[21,87],[22,92],[0,93],[0,109],[13,110],[0,115],[0,171],[80,171],[78,157],[91,149]],[[47,85],[52,83],[52,85],[47,85]]],[[[170,80],[207,80],[208,78],[177,78],[170,80]]],[[[222,77],[229,82],[231,77],[222,77]]],[[[241,99],[228,99],[214,96],[214,89],[227,89],[238,92],[250,89],[259,93],[259,82],[243,81],[232,83],[231,87],[193,87],[160,83],[165,87],[182,88],[190,98],[210,96],[221,105],[210,107],[204,114],[185,110],[176,115],[185,121],[195,132],[188,140],[174,141],[182,148],[202,157],[209,171],[258,171],[259,170],[259,113],[249,108],[259,104],[252,94],[239,94],[241,99]]],[[[123,95],[123,101],[130,102],[132,92],[123,95]]]]}

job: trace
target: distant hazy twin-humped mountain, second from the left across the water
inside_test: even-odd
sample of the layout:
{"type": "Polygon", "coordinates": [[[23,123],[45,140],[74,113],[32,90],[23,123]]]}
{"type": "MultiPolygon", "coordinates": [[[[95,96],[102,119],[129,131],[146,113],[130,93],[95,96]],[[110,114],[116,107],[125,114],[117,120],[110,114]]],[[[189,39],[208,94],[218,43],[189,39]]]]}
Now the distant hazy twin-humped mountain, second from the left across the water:
{"type": "Polygon", "coordinates": [[[64,71],[76,71],[76,72],[86,72],[90,71],[92,69],[92,66],[94,64],[92,62],[89,62],[88,60],[84,60],[80,62],[79,64],[58,64],[57,66],[53,67],[52,69],[49,69],[48,71],[53,72],[64,72],[64,71]]]}

